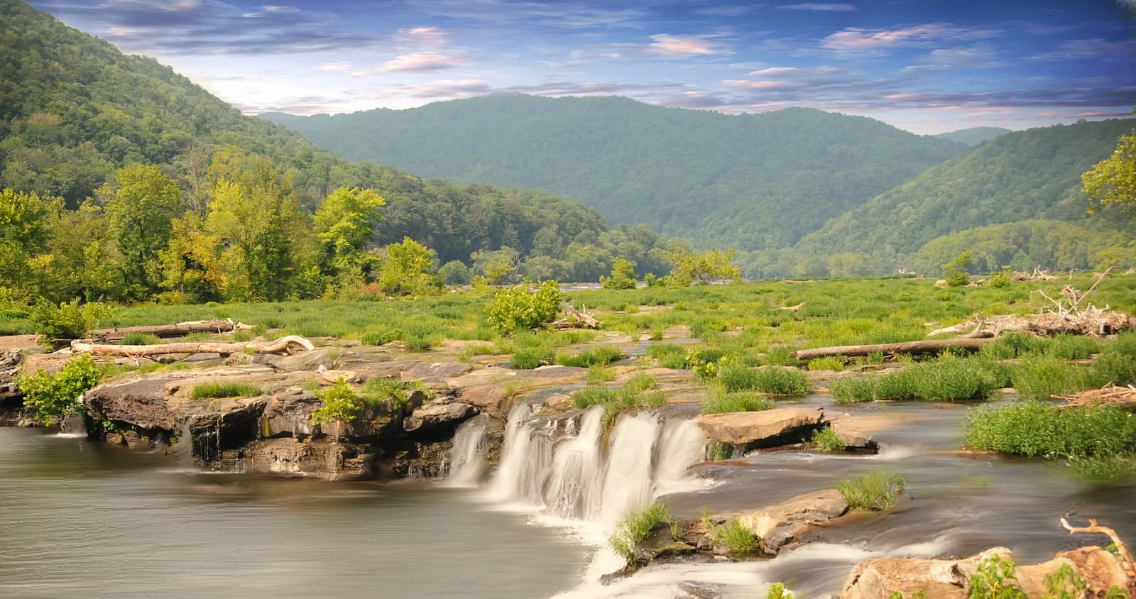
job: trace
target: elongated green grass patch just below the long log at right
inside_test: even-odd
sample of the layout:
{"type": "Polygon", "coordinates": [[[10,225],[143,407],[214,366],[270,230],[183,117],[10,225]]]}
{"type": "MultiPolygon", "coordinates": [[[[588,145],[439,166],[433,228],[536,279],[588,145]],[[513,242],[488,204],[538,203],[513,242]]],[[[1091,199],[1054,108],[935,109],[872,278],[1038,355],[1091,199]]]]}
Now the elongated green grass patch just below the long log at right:
{"type": "Polygon", "coordinates": [[[988,399],[1009,385],[1010,370],[980,357],[944,355],[888,374],[833,381],[837,403],[912,400],[964,402],[988,399]]]}

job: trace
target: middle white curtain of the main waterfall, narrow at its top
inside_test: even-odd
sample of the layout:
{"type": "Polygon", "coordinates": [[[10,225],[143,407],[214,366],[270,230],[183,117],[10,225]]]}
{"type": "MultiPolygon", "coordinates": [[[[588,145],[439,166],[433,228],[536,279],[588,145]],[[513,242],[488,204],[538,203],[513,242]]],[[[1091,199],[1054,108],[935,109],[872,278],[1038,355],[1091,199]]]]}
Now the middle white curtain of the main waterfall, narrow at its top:
{"type": "Polygon", "coordinates": [[[603,500],[603,407],[592,406],[576,437],[561,441],[552,457],[545,493],[553,514],[570,518],[594,515],[603,500]]]}

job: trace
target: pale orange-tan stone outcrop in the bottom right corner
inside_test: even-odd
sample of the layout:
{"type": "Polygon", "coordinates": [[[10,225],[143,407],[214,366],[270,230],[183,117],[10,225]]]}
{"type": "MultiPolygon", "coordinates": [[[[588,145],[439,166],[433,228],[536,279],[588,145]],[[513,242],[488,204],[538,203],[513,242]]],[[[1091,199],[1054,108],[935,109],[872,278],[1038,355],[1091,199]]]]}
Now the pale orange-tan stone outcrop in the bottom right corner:
{"type": "MultiPolygon", "coordinates": [[[[911,597],[922,591],[935,599],[967,599],[970,579],[991,556],[1011,557],[1004,547],[987,549],[966,559],[917,559],[883,557],[861,562],[844,583],[841,599],[887,599],[895,592],[911,597]]],[[[1117,558],[1100,547],[1085,547],[1059,552],[1053,559],[1017,567],[1017,585],[1028,597],[1050,594],[1045,576],[1063,565],[1088,583],[1091,597],[1103,597],[1113,585],[1126,588],[1133,581],[1125,576],[1117,558]]]]}

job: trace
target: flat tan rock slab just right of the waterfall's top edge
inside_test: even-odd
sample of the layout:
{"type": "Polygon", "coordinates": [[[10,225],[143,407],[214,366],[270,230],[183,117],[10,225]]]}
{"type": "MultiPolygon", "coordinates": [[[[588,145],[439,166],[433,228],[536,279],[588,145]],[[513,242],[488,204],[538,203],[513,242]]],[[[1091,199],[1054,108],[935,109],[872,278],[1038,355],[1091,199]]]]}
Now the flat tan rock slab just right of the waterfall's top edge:
{"type": "Polygon", "coordinates": [[[819,428],[825,422],[825,412],[820,408],[780,407],[761,412],[703,414],[695,422],[707,437],[721,442],[774,447],[793,442],[792,437],[819,428]]]}

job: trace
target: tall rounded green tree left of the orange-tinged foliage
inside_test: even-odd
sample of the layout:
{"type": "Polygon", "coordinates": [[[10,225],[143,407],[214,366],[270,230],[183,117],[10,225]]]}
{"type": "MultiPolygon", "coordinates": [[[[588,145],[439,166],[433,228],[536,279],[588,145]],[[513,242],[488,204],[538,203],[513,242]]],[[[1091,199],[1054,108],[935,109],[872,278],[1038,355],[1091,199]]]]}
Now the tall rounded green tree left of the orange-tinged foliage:
{"type": "Polygon", "coordinates": [[[131,164],[115,172],[115,184],[103,184],[97,195],[107,197],[107,217],[131,297],[145,297],[158,288],[158,252],[169,241],[170,221],[178,209],[177,183],[154,164],[131,164]]]}

